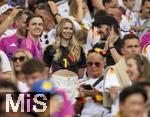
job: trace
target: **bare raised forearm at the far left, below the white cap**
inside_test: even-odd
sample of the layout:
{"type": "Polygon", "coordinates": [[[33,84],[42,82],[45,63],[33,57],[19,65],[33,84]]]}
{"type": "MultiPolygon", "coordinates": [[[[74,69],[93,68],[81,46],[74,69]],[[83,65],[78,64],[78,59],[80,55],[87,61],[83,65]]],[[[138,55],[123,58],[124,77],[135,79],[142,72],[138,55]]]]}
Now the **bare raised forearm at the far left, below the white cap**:
{"type": "Polygon", "coordinates": [[[19,11],[21,11],[21,9],[18,9],[18,7],[13,8],[6,20],[0,24],[0,35],[2,35],[8,29],[19,11]]]}

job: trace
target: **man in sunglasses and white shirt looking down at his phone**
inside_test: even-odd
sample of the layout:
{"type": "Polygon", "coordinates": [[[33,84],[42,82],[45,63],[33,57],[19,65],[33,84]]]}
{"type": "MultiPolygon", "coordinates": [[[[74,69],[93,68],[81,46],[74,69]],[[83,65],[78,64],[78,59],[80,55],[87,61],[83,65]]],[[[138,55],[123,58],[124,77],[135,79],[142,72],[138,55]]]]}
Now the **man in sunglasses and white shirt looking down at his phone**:
{"type": "Polygon", "coordinates": [[[109,115],[109,111],[102,106],[103,55],[103,51],[100,49],[93,49],[88,53],[86,75],[81,81],[79,97],[75,103],[76,113],[81,113],[81,117],[107,117],[109,115]]]}

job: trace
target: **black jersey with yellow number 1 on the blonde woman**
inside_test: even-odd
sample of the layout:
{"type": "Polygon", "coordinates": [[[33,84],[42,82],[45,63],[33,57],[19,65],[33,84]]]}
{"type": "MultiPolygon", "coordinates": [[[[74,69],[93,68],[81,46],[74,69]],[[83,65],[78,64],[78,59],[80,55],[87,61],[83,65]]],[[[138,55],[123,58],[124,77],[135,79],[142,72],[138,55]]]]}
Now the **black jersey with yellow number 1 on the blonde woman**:
{"type": "Polygon", "coordinates": [[[78,73],[79,68],[86,66],[86,57],[81,47],[81,54],[79,60],[69,53],[68,48],[61,46],[62,55],[60,59],[54,60],[54,54],[56,53],[52,45],[48,46],[44,52],[44,61],[48,66],[52,66],[53,72],[59,69],[68,69],[75,73],[78,73]]]}

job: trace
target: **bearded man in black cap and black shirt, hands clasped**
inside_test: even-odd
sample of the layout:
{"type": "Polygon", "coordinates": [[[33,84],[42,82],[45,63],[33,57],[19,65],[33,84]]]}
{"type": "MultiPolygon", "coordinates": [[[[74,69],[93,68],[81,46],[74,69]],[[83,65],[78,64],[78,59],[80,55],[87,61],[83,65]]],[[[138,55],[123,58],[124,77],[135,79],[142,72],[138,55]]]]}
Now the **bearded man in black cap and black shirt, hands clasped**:
{"type": "Polygon", "coordinates": [[[94,48],[104,49],[106,52],[106,66],[114,65],[121,58],[121,39],[119,25],[112,16],[103,16],[95,23],[101,35],[101,41],[94,48]]]}

